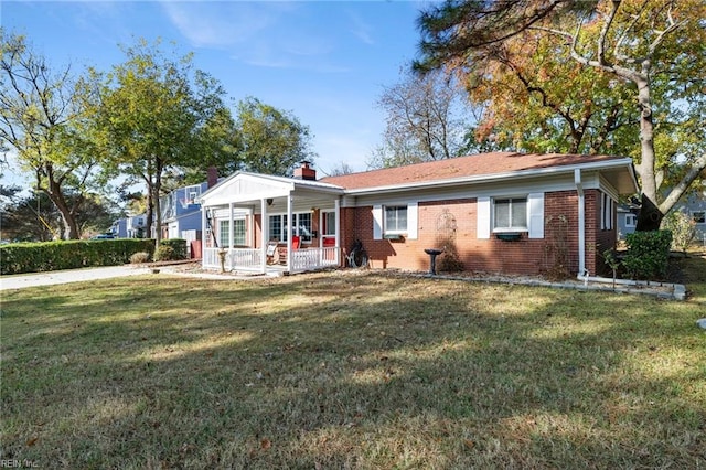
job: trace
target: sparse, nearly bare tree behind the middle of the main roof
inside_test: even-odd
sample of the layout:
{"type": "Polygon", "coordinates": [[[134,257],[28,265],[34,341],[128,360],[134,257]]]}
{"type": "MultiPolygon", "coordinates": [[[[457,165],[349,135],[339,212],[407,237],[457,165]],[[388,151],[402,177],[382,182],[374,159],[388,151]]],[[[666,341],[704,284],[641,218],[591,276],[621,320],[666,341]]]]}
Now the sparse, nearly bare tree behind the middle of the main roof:
{"type": "Polygon", "coordinates": [[[396,85],[385,87],[377,105],[387,113],[384,143],[370,167],[398,167],[458,157],[471,122],[466,94],[452,77],[404,70],[396,85]]]}

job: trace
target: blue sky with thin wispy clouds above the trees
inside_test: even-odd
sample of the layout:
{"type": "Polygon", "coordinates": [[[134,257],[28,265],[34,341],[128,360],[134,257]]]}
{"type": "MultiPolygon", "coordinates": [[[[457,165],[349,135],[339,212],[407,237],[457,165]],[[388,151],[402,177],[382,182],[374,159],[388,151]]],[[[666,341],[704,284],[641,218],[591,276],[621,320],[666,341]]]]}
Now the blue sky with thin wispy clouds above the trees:
{"type": "MultiPolygon", "coordinates": [[[[217,78],[228,99],[254,96],[313,133],[320,172],[365,170],[382,141],[383,86],[416,56],[421,1],[13,1],[0,24],[25,34],[53,65],[108,71],[118,44],[173,41],[217,78]]],[[[12,178],[13,174],[6,174],[12,178]]]]}

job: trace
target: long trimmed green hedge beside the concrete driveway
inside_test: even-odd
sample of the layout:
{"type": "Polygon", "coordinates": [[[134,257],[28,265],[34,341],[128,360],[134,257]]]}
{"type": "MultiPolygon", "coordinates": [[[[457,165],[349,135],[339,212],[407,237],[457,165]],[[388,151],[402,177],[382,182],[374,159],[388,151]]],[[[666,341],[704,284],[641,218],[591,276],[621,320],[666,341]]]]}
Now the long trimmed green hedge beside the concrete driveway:
{"type": "Polygon", "coordinates": [[[18,243],[0,246],[0,274],[41,273],[93,266],[117,266],[133,253],[154,253],[154,241],[146,238],[76,239],[18,243]]]}

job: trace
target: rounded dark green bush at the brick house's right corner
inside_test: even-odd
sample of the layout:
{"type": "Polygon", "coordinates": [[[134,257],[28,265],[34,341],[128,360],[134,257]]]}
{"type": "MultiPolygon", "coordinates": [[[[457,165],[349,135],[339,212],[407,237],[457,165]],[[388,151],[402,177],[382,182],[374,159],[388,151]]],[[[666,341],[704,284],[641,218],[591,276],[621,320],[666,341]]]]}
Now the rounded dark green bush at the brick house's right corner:
{"type": "Polygon", "coordinates": [[[672,232],[635,232],[625,237],[623,267],[633,279],[664,279],[670,263],[672,232]]]}

